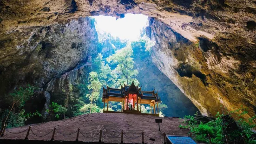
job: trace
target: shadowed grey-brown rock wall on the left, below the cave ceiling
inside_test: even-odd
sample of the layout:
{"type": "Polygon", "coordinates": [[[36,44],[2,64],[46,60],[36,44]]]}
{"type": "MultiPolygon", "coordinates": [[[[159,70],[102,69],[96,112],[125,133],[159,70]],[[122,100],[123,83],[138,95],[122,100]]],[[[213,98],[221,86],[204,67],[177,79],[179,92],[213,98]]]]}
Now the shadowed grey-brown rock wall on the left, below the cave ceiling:
{"type": "Polygon", "coordinates": [[[2,39],[0,93],[5,95],[17,86],[36,85],[42,93],[39,98],[43,98],[32,108],[38,110],[43,108],[45,99],[46,106],[50,98],[63,99],[56,95],[62,87],[79,80],[79,73],[83,73],[88,57],[97,53],[98,46],[94,20],[88,17],[66,25],[19,29],[2,39]]]}

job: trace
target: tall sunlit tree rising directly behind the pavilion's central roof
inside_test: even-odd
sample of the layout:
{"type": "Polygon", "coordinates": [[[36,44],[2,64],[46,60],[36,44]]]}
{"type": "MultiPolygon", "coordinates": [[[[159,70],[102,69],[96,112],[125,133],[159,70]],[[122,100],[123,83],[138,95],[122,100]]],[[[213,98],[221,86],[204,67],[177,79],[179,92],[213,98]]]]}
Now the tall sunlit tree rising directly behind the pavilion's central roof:
{"type": "Polygon", "coordinates": [[[135,84],[138,84],[138,80],[136,76],[138,75],[138,71],[134,69],[134,61],[133,61],[133,51],[131,48],[131,44],[127,44],[126,47],[117,50],[115,54],[109,56],[107,58],[107,62],[112,65],[117,65],[113,70],[117,77],[117,85],[120,83],[124,83],[129,85],[129,82],[134,81],[135,84]]]}

